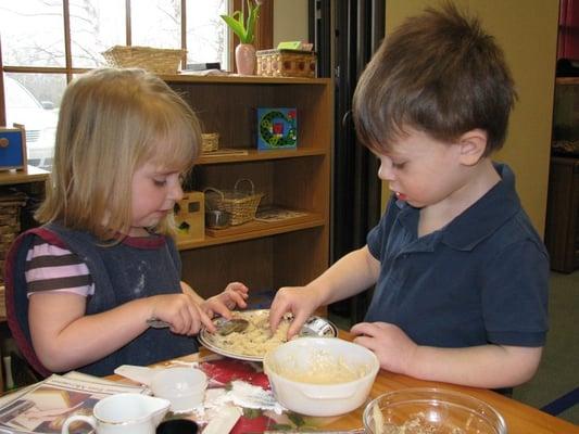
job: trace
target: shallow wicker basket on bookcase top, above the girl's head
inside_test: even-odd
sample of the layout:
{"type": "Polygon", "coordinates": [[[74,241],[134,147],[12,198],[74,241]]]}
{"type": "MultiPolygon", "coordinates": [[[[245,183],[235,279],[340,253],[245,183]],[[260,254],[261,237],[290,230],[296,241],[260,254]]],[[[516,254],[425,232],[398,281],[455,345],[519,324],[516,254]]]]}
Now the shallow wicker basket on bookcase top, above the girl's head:
{"type": "Polygon", "coordinates": [[[114,46],[102,53],[110,66],[140,67],[154,74],[176,74],[185,50],[114,46]]]}

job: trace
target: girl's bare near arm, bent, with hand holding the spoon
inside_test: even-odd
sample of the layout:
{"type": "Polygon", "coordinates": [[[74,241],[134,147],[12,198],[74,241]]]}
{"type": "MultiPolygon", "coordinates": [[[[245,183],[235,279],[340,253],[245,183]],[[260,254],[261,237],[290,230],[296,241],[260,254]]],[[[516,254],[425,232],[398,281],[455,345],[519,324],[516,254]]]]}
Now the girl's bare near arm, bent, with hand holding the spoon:
{"type": "Polygon", "coordinates": [[[65,292],[30,295],[28,323],[35,353],[54,372],[99,360],[148,329],[147,319],[169,322],[178,334],[196,334],[201,324],[213,327],[189,294],[155,295],[114,309],[85,315],[86,298],[65,292]]]}

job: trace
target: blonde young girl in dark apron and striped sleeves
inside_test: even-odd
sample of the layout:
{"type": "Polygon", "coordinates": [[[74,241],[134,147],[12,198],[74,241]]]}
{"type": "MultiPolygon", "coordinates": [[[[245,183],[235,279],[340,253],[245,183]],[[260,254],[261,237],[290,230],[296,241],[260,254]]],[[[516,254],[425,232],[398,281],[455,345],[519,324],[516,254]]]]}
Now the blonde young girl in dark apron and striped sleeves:
{"type": "Polygon", "coordinates": [[[103,68],[68,86],[43,226],[7,260],[9,324],[39,373],[104,375],[194,353],[202,324],[246,307],[241,283],[203,301],[180,281],[172,210],[199,143],[191,108],[152,74],[103,68]]]}

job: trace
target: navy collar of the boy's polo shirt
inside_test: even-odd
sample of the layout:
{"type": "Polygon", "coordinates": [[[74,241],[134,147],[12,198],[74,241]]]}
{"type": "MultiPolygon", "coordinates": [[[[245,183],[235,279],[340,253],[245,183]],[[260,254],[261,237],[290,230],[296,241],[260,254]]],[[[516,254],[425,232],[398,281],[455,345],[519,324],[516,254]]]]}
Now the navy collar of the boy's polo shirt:
{"type": "MultiPolygon", "coordinates": [[[[494,163],[494,168],[501,180],[448,226],[432,233],[436,240],[458,251],[471,251],[520,209],[513,170],[499,163],[494,163]]],[[[397,201],[397,206],[401,208],[402,225],[407,230],[417,230],[419,209],[402,201],[397,201]]]]}

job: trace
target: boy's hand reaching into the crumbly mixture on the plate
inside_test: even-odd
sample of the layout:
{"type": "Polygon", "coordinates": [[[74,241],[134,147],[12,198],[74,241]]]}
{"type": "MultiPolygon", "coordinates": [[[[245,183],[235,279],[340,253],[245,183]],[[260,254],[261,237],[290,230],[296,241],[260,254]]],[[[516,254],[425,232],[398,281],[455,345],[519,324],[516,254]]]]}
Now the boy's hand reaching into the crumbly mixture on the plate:
{"type": "Polygon", "coordinates": [[[272,302],[269,308],[269,328],[277,330],[285,314],[293,314],[293,321],[288,330],[288,341],[300,332],[303,323],[310,318],[319,303],[316,292],[306,286],[281,288],[272,302]]]}

